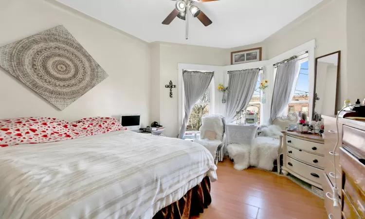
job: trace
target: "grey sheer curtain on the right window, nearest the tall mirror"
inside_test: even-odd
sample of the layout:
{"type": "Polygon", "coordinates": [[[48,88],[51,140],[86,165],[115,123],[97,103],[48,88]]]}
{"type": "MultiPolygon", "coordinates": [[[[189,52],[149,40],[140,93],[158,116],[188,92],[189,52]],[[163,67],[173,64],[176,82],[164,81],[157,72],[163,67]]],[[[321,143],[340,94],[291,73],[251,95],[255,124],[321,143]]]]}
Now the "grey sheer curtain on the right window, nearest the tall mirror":
{"type": "Polygon", "coordinates": [[[281,116],[294,95],[298,81],[300,62],[298,58],[280,64],[276,70],[269,124],[281,116]]]}

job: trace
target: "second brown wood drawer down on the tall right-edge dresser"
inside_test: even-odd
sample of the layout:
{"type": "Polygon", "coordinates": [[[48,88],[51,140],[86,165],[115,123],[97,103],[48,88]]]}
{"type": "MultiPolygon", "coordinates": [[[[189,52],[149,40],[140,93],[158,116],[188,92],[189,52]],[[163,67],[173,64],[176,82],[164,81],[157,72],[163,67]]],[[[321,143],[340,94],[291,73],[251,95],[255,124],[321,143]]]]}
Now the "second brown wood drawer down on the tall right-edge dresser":
{"type": "Polygon", "coordinates": [[[357,210],[357,213],[365,218],[365,195],[364,193],[352,182],[351,178],[346,178],[344,188],[347,198],[351,201],[357,210]]]}

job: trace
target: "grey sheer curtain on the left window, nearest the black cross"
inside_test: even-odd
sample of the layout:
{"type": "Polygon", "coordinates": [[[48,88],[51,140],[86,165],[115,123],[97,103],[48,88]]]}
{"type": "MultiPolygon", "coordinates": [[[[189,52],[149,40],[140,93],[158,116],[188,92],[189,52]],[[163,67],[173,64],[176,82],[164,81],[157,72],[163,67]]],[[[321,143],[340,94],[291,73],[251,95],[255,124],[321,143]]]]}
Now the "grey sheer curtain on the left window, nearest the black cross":
{"type": "Polygon", "coordinates": [[[184,86],[184,118],[180,128],[179,138],[183,139],[186,124],[189,120],[191,109],[198,102],[199,98],[208,89],[210,82],[213,79],[212,72],[183,72],[184,86]]]}

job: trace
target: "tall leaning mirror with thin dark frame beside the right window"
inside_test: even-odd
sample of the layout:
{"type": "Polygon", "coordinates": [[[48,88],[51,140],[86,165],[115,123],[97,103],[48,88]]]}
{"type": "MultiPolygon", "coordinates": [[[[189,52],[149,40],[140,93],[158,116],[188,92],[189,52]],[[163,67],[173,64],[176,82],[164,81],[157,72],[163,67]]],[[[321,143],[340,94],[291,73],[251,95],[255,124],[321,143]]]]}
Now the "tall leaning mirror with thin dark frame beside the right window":
{"type": "Polygon", "coordinates": [[[340,63],[341,51],[315,59],[313,111],[317,114],[337,114],[340,63]]]}

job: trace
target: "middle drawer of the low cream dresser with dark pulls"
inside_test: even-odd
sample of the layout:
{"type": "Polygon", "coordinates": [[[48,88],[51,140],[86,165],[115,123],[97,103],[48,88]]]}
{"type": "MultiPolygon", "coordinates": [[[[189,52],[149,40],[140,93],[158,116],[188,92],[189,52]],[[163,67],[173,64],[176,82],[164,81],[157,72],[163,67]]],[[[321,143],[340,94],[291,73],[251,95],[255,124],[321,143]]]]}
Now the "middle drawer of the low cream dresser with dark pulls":
{"type": "Polygon", "coordinates": [[[303,161],[305,163],[311,164],[313,166],[316,166],[316,167],[319,167],[322,169],[325,167],[325,158],[324,157],[307,153],[302,149],[296,149],[296,148],[288,145],[287,146],[287,155],[292,158],[295,158],[297,160],[303,161]]]}

